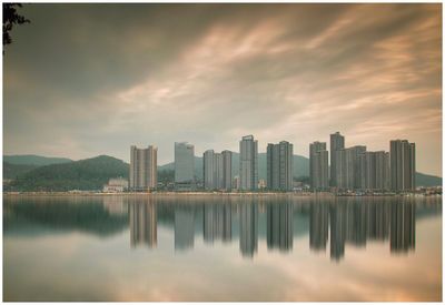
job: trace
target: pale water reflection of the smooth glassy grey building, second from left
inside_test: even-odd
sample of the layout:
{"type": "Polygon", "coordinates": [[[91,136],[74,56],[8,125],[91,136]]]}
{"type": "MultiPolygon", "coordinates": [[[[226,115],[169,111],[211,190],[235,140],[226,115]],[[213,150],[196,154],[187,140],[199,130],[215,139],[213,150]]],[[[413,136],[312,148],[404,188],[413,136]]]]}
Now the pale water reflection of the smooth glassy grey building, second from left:
{"type": "Polygon", "coordinates": [[[192,248],[195,243],[195,214],[191,210],[175,209],[175,250],[192,248]]]}

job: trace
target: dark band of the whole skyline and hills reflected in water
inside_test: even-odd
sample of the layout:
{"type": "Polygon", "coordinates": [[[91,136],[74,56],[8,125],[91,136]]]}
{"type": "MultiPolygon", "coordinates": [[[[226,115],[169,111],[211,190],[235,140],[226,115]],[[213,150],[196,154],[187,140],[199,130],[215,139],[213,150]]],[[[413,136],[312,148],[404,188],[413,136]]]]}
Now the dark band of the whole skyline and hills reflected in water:
{"type": "MultiPolygon", "coordinates": [[[[256,255],[258,240],[266,240],[268,250],[290,252],[295,236],[308,234],[312,251],[326,252],[329,242],[330,258],[340,261],[345,245],[365,247],[367,241],[389,240],[392,253],[414,251],[416,213],[422,216],[422,211],[416,211],[415,202],[405,197],[313,197],[299,202],[286,197],[205,199],[201,202],[190,199],[188,203],[150,196],[46,199],[43,203],[39,200],[7,202],[3,220],[7,234],[17,227],[39,224],[101,236],[122,231],[128,221],[130,247],[146,244],[156,248],[159,217],[162,225],[175,231],[174,244],[178,252],[194,248],[195,234],[202,234],[207,245],[215,241],[231,243],[234,236],[239,236],[239,252],[245,257],[256,255]],[[308,225],[301,223],[305,217],[308,225]]],[[[441,210],[429,211],[441,213],[441,210]]]]}

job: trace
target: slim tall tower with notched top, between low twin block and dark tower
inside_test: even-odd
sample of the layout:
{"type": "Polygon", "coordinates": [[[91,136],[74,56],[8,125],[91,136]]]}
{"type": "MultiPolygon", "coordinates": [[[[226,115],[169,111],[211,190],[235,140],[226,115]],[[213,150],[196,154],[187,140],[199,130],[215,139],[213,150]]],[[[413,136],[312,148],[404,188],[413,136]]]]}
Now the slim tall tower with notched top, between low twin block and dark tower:
{"type": "Polygon", "coordinates": [[[253,191],[258,187],[258,141],[254,135],[243,136],[239,141],[240,190],[253,191]]]}

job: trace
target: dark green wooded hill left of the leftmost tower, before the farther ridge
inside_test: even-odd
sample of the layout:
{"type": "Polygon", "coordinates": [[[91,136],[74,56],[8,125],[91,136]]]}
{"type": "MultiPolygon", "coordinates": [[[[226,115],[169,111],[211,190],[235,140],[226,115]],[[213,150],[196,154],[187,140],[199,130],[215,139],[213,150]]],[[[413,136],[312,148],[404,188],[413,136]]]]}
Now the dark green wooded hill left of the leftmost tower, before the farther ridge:
{"type": "Polygon", "coordinates": [[[11,191],[101,190],[110,177],[128,177],[128,164],[108,155],[40,166],[12,181],[11,191]]]}

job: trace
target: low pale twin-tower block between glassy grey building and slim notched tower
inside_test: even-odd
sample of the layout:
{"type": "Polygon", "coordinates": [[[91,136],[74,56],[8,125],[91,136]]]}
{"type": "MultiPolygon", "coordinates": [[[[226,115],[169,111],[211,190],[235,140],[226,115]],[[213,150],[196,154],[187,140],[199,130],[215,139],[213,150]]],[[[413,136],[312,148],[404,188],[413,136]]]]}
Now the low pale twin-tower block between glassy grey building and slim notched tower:
{"type": "Polygon", "coordinates": [[[231,190],[231,152],[204,152],[204,187],[210,190],[231,190]]]}

